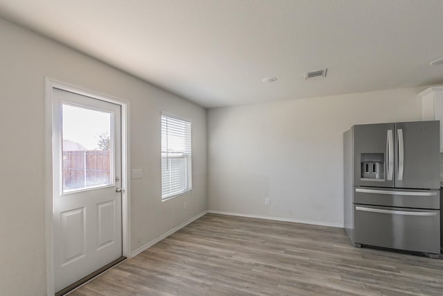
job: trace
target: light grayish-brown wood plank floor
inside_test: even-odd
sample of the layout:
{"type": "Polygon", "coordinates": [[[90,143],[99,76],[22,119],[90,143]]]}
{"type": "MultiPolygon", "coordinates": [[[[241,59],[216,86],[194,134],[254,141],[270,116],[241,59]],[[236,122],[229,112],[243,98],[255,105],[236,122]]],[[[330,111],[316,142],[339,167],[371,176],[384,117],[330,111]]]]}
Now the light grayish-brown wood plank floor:
{"type": "Polygon", "coordinates": [[[343,229],[206,214],[75,295],[443,295],[443,260],[343,229]]]}

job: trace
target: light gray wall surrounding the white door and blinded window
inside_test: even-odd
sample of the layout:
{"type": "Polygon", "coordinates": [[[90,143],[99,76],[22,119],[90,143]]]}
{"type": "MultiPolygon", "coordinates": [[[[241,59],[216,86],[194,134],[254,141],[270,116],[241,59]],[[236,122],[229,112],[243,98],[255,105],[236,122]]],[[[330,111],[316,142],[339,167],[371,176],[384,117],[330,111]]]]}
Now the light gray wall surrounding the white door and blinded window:
{"type": "MultiPolygon", "coordinates": [[[[206,110],[0,19],[0,294],[46,294],[45,76],[129,101],[132,250],[206,210],[206,110]],[[192,119],[192,193],[161,202],[160,112],[192,119]],[[188,209],[183,209],[187,202],[188,209]]],[[[155,58],[155,57],[152,57],[155,58]]]]}

